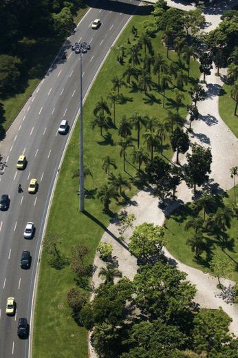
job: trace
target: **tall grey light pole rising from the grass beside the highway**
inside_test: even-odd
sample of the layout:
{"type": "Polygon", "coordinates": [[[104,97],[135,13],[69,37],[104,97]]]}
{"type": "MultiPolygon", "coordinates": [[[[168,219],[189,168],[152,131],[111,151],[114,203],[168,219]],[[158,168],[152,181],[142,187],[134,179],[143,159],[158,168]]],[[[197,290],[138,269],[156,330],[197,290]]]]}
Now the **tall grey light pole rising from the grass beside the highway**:
{"type": "Polygon", "coordinates": [[[82,47],[80,42],[80,122],[79,122],[79,211],[82,213],[85,209],[85,176],[83,165],[83,74],[82,74],[82,47]]]}

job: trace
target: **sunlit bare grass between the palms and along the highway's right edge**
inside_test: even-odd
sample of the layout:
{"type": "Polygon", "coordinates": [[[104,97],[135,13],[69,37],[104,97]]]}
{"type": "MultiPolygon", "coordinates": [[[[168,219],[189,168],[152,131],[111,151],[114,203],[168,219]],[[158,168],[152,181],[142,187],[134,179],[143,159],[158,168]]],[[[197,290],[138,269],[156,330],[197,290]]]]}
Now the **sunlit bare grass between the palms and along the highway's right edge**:
{"type": "MultiPolygon", "coordinates": [[[[133,43],[131,26],[136,25],[138,34],[140,34],[145,19],[148,19],[148,16],[133,17],[125,32],[120,36],[118,43],[111,50],[111,54],[109,54],[100,74],[98,74],[84,105],[85,164],[92,173],[92,178],[87,177],[85,180],[85,188],[91,192],[91,198],[85,199],[85,213],[78,213],[78,178],[72,179],[72,174],[78,168],[78,125],[76,125],[67,148],[56,186],[47,231],[62,234],[63,240],[60,249],[68,257],[72,246],[83,242],[91,249],[88,261],[92,263],[98,242],[109,224],[111,216],[122,207],[127,196],[133,196],[140,188],[140,183],[134,180],[137,169],[136,166],[131,164],[130,151],[127,156],[127,172],[123,173],[123,160],[120,158],[120,147],[117,145],[119,137],[116,129],[109,130],[111,137],[100,136],[98,127],[94,131],[91,129],[91,120],[94,119],[92,112],[96,103],[100,100],[100,96],[106,99],[111,91],[111,78],[116,75],[120,77],[125,71],[126,65],[120,65],[116,60],[118,54],[120,54],[120,45],[125,48],[128,47],[128,38],[133,43]],[[111,215],[102,212],[102,203],[96,197],[98,188],[107,183],[107,175],[102,170],[102,158],[107,155],[116,161],[118,168],[113,172],[123,173],[123,176],[128,179],[131,178],[133,183],[131,191],[125,190],[125,198],[121,198],[119,202],[115,200],[111,202],[111,215]]],[[[153,48],[155,53],[160,52],[165,55],[166,49],[161,45],[161,36],[162,34],[158,34],[153,39],[153,48]]],[[[128,61],[128,56],[125,61],[128,61]]],[[[177,61],[177,55],[171,53],[171,60],[169,61],[177,61]]],[[[199,78],[198,64],[194,61],[191,61],[191,76],[199,78]]],[[[189,87],[191,87],[191,84],[188,84],[187,88],[189,87]]],[[[166,117],[166,109],[171,107],[170,98],[174,96],[171,89],[166,90],[166,109],[163,109],[162,95],[155,90],[149,91],[150,97],[140,91],[132,92],[130,87],[123,87],[121,92],[128,100],[123,105],[116,105],[116,123],[122,115],[126,114],[129,118],[136,110],[142,115],[147,114],[163,119],[166,117]]],[[[186,104],[189,103],[190,97],[186,92],[184,94],[184,107],[181,109],[181,114],[186,116],[186,104]]],[[[133,140],[136,144],[136,131],[133,131],[133,140]]],[[[166,142],[164,156],[170,158],[171,154],[171,149],[166,142]]],[[[69,266],[59,271],[51,268],[47,263],[47,254],[43,249],[34,315],[34,358],[87,357],[87,331],[76,326],[66,302],[66,293],[73,286],[75,286],[75,282],[69,266]]]]}

